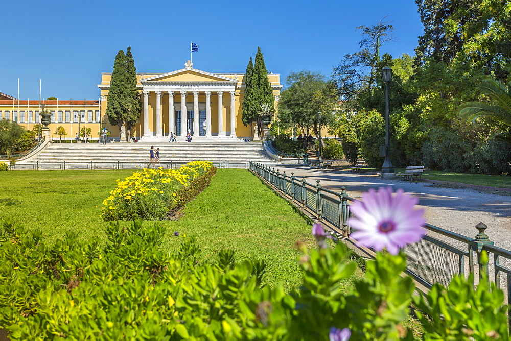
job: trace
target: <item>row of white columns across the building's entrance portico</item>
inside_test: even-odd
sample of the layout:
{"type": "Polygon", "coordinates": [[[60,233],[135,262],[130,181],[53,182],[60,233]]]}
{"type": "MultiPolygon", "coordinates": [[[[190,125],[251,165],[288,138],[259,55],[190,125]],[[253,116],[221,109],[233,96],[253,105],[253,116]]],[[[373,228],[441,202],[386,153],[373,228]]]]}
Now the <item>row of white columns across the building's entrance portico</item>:
{"type": "MultiPolygon", "coordinates": [[[[149,95],[153,91],[142,91],[144,95],[144,137],[152,136],[151,130],[149,129],[149,95]]],[[[161,113],[161,96],[168,95],[169,98],[169,132],[176,132],[176,104],[174,103],[174,95],[177,95],[178,91],[154,91],[156,94],[156,136],[163,136],[163,118],[161,113]]],[[[185,135],[187,132],[187,94],[190,91],[181,90],[181,135],[185,135]]],[[[193,133],[199,135],[199,92],[204,92],[206,95],[206,133],[205,136],[211,135],[211,95],[213,91],[191,91],[193,94],[193,133]]],[[[218,136],[225,136],[223,127],[223,94],[227,91],[216,91],[218,96],[218,136]]],[[[236,136],[236,112],[235,112],[235,95],[236,91],[228,91],[230,94],[230,136],[236,136]]]]}

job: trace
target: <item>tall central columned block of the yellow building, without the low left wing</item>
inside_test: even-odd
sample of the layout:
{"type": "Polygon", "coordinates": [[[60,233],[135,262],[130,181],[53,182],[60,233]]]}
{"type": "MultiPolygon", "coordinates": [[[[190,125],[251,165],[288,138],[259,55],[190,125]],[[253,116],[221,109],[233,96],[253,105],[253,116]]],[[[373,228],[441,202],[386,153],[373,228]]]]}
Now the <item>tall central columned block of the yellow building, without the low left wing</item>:
{"type": "MultiPolygon", "coordinates": [[[[102,74],[101,115],[108,102],[111,73],[102,74]]],[[[193,68],[188,61],[183,69],[163,74],[137,74],[142,110],[132,135],[142,141],[163,141],[170,132],[195,140],[251,138],[250,127],[241,120],[245,74],[219,74],[193,68]]],[[[268,74],[276,102],[282,85],[280,74],[268,74]]],[[[116,128],[118,134],[119,129],[116,128]]]]}

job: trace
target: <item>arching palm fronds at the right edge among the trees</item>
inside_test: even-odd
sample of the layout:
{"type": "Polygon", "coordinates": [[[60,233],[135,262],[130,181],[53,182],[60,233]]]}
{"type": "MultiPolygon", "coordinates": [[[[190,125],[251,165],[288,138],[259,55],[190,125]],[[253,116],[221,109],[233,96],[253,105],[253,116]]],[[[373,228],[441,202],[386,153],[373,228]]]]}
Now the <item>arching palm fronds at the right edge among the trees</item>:
{"type": "MultiPolygon", "coordinates": [[[[479,84],[479,89],[490,101],[463,103],[459,107],[459,116],[467,121],[475,121],[481,116],[491,117],[511,129],[511,82],[505,85],[495,77],[487,76],[479,84]]],[[[495,139],[511,144],[511,132],[497,135],[495,139]]]]}

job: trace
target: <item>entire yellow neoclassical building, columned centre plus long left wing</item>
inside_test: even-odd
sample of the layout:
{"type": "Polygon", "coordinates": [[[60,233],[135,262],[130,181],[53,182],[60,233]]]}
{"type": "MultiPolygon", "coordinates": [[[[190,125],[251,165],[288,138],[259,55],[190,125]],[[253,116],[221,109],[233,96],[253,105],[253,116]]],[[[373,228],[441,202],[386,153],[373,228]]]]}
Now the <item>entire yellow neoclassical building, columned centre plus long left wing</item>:
{"type": "MultiPolygon", "coordinates": [[[[106,127],[110,137],[119,137],[119,127],[111,126],[106,117],[111,73],[101,75],[100,100],[18,100],[4,95],[0,98],[0,119],[17,121],[31,130],[39,123],[41,105],[53,113],[48,126],[51,136],[58,126],[74,140],[83,127],[91,128],[91,139],[99,139],[106,127]]],[[[170,132],[184,137],[188,131],[194,141],[233,141],[251,138],[250,127],[241,120],[244,73],[212,73],[193,68],[188,61],[183,69],[161,74],[137,74],[142,110],[132,136],[141,141],[168,141],[170,132]]],[[[280,74],[268,74],[277,107],[282,85],[280,74]]]]}

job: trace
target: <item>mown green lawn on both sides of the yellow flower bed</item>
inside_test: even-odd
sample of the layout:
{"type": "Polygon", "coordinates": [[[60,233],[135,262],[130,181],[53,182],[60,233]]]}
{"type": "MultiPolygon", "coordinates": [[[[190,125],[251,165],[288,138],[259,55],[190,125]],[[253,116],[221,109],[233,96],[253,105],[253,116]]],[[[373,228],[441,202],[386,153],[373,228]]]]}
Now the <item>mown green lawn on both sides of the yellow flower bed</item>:
{"type": "MultiPolygon", "coordinates": [[[[75,231],[83,239],[104,240],[107,222],[100,217],[101,202],[116,179],[132,171],[9,171],[0,172],[0,222],[13,218],[40,229],[50,241],[75,231]]],[[[179,247],[174,231],[195,236],[206,259],[216,259],[224,248],[236,250],[237,261],[264,259],[266,282],[299,284],[296,241],[315,247],[311,226],[286,201],[244,169],[218,169],[213,181],[167,226],[165,248],[179,247]]],[[[154,222],[146,222],[153,224],[154,222]]],[[[129,224],[129,222],[123,222],[129,224]]],[[[359,271],[356,277],[362,276],[359,271]]],[[[349,283],[346,283],[349,285],[349,283]]]]}

